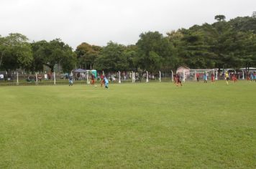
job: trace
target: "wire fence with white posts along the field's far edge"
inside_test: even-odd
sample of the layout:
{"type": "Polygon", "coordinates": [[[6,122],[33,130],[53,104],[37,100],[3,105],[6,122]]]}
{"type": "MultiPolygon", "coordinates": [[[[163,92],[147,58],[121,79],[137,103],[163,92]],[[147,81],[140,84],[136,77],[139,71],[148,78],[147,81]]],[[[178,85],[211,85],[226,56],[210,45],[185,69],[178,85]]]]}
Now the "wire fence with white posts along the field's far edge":
{"type": "MultiPolygon", "coordinates": [[[[101,75],[109,79],[110,83],[140,83],[140,82],[173,82],[175,74],[183,82],[201,81],[205,79],[205,74],[209,80],[224,79],[223,72],[217,72],[214,69],[198,69],[188,72],[108,72],[98,71],[96,73],[96,83],[101,83],[101,75]]],[[[246,79],[244,72],[229,72],[230,77],[237,79],[246,79]]],[[[87,73],[46,73],[46,72],[0,72],[0,86],[3,85],[53,85],[68,84],[69,79],[73,79],[74,84],[91,84],[91,74],[87,73]]]]}

